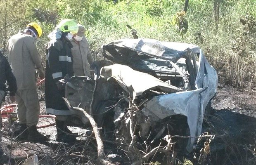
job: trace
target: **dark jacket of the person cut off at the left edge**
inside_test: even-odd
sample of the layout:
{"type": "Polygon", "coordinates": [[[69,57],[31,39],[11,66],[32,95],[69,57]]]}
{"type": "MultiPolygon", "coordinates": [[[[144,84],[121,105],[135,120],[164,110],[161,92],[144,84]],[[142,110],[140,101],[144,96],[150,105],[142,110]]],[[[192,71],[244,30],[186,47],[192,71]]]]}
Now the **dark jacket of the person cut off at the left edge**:
{"type": "Polygon", "coordinates": [[[9,88],[10,96],[14,96],[17,91],[16,78],[12,73],[12,68],[9,65],[7,59],[2,55],[0,51],[0,90],[6,90],[5,82],[9,88]]]}

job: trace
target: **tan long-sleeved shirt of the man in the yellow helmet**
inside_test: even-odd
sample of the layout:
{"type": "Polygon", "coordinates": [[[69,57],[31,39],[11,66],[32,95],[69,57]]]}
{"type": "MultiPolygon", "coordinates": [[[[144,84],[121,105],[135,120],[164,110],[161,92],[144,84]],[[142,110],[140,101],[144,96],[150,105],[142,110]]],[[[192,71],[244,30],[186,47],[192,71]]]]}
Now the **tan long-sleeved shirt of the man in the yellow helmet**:
{"type": "Polygon", "coordinates": [[[35,68],[43,72],[35,39],[23,31],[13,35],[8,43],[8,61],[17,80],[18,90],[36,88],[35,68]]]}

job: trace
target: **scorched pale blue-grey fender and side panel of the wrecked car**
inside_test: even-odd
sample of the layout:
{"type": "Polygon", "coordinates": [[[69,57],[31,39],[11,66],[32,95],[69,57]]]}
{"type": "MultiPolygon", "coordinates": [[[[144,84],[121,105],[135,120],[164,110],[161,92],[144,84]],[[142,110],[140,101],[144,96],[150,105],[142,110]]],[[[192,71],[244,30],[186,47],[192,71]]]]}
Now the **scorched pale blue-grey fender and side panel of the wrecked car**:
{"type": "MultiPolygon", "coordinates": [[[[154,113],[159,119],[175,114],[187,116],[191,137],[198,137],[201,134],[205,108],[216,94],[218,83],[216,71],[206,61],[202,52],[199,59],[196,90],[156,96],[145,103],[144,109],[145,113],[154,113]]],[[[194,141],[195,138],[190,139],[187,151],[192,151],[194,141]]]]}

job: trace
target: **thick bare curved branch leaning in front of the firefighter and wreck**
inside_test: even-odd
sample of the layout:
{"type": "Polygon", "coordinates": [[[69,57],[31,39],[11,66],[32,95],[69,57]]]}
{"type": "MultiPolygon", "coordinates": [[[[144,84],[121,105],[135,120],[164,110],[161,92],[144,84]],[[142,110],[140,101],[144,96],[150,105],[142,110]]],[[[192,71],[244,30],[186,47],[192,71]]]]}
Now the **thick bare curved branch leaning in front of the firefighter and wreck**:
{"type": "Polygon", "coordinates": [[[64,99],[64,101],[66,102],[66,105],[69,108],[75,109],[77,111],[82,111],[85,114],[86,118],[89,119],[90,124],[92,125],[93,132],[95,134],[96,142],[97,142],[97,151],[98,151],[98,158],[97,158],[97,160],[99,161],[99,163],[101,165],[112,165],[112,163],[108,162],[107,160],[104,160],[105,159],[104,145],[103,145],[103,141],[102,141],[102,139],[100,137],[99,128],[98,128],[97,123],[95,122],[94,118],[92,118],[92,116],[89,115],[83,108],[73,107],[73,106],[71,106],[71,104],[69,103],[69,101],[66,98],[63,98],[63,99],[64,99]]]}

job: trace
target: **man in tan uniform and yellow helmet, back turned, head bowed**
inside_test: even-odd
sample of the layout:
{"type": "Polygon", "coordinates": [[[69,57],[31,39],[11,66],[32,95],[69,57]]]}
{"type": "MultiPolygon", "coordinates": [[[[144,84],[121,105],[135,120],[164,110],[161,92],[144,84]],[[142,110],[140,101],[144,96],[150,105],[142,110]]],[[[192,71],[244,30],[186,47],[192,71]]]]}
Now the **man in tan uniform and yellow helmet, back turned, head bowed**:
{"type": "Polygon", "coordinates": [[[45,77],[42,60],[36,48],[36,39],[42,35],[36,23],[27,25],[24,31],[13,35],[8,41],[8,61],[17,80],[17,115],[21,128],[19,140],[47,141],[48,137],[36,129],[40,106],[36,91],[37,69],[40,79],[45,77]]]}

